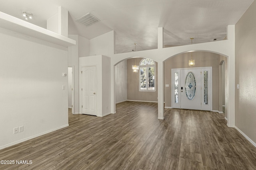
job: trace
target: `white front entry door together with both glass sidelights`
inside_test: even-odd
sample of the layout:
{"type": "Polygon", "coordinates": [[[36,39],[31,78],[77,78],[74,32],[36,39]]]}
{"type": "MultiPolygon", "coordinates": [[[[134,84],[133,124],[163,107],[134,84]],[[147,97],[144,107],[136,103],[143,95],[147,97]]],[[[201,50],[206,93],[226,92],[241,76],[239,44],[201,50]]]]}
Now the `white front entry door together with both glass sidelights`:
{"type": "Polygon", "coordinates": [[[172,107],[212,110],[212,68],[172,69],[172,107]]]}

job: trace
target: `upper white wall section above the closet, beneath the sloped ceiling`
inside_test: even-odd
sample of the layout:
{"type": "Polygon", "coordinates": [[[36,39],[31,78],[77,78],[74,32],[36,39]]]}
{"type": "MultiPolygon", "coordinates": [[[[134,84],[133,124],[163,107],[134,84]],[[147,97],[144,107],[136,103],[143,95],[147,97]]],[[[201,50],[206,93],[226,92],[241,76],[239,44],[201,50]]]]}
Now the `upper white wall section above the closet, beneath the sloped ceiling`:
{"type": "Polygon", "coordinates": [[[90,39],[90,56],[114,54],[115,32],[110,31],[90,39]]]}

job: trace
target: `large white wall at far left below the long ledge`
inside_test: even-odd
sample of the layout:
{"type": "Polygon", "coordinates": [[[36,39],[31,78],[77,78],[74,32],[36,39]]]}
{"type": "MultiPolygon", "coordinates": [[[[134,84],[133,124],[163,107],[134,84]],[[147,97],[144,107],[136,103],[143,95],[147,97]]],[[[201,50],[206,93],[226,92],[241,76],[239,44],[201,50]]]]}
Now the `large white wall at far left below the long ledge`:
{"type": "Polygon", "coordinates": [[[68,126],[67,61],[66,47],[0,28],[0,149],[68,126]]]}

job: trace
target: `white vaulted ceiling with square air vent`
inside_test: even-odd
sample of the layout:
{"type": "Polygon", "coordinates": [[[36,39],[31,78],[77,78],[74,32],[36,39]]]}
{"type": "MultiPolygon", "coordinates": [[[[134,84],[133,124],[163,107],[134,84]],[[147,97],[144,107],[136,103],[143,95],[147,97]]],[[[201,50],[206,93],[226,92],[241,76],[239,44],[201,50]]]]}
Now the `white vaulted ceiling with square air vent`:
{"type": "Polygon", "coordinates": [[[69,11],[69,34],[92,39],[116,31],[116,53],[157,48],[157,28],[164,27],[164,45],[222,40],[254,0],[0,0],[0,11],[46,28],[46,20],[62,6],[69,11]],[[90,12],[100,21],[85,27],[75,20],[90,12]]]}

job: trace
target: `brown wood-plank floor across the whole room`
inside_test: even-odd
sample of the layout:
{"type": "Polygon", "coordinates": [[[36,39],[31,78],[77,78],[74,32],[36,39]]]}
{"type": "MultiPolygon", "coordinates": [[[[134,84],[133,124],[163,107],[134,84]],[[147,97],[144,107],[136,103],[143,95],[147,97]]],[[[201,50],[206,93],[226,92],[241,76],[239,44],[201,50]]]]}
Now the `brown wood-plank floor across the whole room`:
{"type": "Polygon", "coordinates": [[[256,148],[224,115],[123,102],[105,117],[72,115],[69,127],[0,150],[0,160],[32,160],[0,170],[256,170],[256,148]]]}

